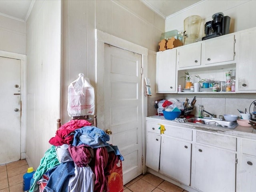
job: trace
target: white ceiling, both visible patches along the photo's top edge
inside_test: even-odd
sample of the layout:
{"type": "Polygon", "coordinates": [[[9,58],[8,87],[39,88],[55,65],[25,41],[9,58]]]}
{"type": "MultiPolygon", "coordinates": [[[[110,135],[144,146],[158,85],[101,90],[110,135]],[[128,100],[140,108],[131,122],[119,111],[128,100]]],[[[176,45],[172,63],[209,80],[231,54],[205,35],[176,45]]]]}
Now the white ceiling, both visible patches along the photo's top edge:
{"type": "MultiPolygon", "coordinates": [[[[26,21],[35,0],[0,0],[0,14],[26,21]]],[[[164,19],[200,0],[140,0],[164,19]]]]}

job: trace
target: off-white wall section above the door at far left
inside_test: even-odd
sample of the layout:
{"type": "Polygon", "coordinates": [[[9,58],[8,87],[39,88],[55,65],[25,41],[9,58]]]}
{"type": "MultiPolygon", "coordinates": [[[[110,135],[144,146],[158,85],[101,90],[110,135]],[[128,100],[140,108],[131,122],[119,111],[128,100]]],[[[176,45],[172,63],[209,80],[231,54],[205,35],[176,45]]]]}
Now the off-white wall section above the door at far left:
{"type": "Polygon", "coordinates": [[[0,50],[26,54],[26,23],[0,15],[0,50]]]}

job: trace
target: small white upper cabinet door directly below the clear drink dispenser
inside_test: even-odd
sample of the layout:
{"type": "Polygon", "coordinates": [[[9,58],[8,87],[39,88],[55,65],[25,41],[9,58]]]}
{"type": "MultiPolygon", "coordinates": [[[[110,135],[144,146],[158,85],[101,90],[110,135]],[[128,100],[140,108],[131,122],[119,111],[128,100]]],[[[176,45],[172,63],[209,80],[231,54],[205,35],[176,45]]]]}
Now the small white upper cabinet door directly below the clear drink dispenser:
{"type": "Polygon", "coordinates": [[[178,50],[178,68],[201,65],[201,44],[181,46],[178,50]]]}

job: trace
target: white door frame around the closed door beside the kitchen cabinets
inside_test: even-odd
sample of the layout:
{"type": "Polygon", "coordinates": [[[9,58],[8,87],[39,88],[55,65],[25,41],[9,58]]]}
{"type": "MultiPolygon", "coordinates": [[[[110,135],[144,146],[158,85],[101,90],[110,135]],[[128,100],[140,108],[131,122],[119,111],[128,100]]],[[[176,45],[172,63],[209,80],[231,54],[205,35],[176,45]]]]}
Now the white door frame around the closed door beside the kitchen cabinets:
{"type": "Polygon", "coordinates": [[[104,100],[100,99],[104,95],[104,82],[103,78],[97,78],[98,75],[104,74],[104,68],[97,68],[97,63],[104,63],[104,44],[109,44],[111,46],[115,46],[124,50],[128,50],[142,56],[142,155],[143,165],[142,165],[142,172],[143,174],[146,173],[147,167],[145,165],[146,160],[146,116],[147,116],[147,109],[148,109],[148,97],[145,95],[145,81],[144,78],[147,77],[148,74],[148,49],[127,40],[123,40],[116,36],[107,34],[100,30],[95,30],[95,37],[96,37],[96,114],[97,114],[97,125],[99,128],[104,128],[104,100]],[[100,80],[100,81],[99,81],[100,80]],[[97,100],[97,98],[99,98],[97,100]]]}

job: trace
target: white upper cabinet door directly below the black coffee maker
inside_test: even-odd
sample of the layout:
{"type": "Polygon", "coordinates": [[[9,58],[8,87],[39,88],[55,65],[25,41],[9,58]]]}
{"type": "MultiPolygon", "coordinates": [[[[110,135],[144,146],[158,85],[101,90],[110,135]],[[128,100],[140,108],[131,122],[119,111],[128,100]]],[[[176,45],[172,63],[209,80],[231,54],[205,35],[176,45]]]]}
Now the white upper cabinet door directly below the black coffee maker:
{"type": "Polygon", "coordinates": [[[234,60],[234,35],[204,42],[204,64],[234,60]]]}

